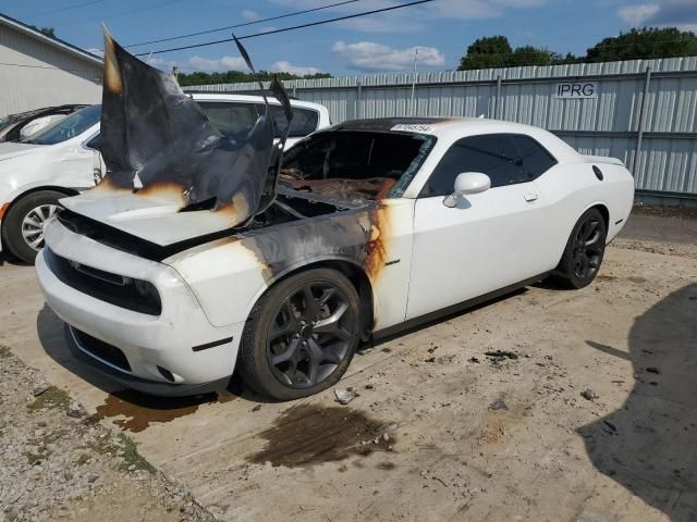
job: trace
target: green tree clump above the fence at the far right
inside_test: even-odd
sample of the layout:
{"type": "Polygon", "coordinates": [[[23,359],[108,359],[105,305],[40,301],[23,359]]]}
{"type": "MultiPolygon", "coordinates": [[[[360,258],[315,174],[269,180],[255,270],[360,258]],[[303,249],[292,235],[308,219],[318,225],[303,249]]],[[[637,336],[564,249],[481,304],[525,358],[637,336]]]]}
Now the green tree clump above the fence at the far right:
{"type": "Polygon", "coordinates": [[[604,38],[588,49],[586,61],[608,62],[653,58],[694,57],[697,36],[675,27],[644,27],[604,38]]]}

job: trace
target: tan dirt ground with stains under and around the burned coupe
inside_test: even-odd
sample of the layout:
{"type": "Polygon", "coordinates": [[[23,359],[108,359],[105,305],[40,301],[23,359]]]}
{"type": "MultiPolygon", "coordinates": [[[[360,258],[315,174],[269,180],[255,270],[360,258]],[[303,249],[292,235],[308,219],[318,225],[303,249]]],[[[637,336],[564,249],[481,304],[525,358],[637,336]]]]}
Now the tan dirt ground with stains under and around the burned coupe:
{"type": "Polygon", "coordinates": [[[0,344],[220,520],[696,521],[696,243],[694,217],[637,212],[583,290],[528,287],[366,347],[347,406],[119,390],[72,362],[9,262],[0,344]]]}

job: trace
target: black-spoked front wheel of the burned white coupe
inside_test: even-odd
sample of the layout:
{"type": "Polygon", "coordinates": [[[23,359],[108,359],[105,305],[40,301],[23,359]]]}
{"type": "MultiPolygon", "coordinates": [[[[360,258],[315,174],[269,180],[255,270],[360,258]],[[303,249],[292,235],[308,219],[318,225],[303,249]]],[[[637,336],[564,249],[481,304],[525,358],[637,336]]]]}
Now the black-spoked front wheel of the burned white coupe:
{"type": "Polygon", "coordinates": [[[333,386],[358,346],[359,310],[358,293],[335,270],[309,270],[282,281],[249,314],[240,347],[242,378],[277,400],[333,386]]]}

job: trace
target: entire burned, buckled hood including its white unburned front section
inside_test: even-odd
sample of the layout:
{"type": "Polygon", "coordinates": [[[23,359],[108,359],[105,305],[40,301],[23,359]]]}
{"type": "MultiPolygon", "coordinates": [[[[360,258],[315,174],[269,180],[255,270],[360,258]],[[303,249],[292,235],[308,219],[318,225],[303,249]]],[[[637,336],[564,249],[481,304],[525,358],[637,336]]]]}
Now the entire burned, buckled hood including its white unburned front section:
{"type": "MultiPolygon", "coordinates": [[[[62,200],[69,210],[168,245],[243,226],[271,204],[286,136],[273,146],[268,102],[252,129],[224,135],[173,75],[130,54],[106,29],[103,75],[98,149],[107,173],[95,188],[62,200]]],[[[288,135],[290,100],[277,78],[271,90],[288,135]]]]}

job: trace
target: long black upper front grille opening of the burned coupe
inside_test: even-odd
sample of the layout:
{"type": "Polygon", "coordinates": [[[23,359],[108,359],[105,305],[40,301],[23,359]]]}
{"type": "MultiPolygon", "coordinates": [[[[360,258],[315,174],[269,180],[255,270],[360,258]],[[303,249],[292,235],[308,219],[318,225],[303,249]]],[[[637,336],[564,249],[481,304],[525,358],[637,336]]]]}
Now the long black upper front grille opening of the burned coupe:
{"type": "Polygon", "coordinates": [[[70,261],[46,247],[46,261],[61,282],[101,301],[134,312],[162,313],[160,294],[151,283],[125,277],[94,266],[70,261]]]}

